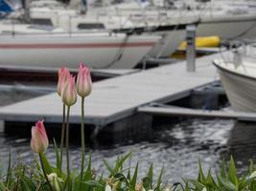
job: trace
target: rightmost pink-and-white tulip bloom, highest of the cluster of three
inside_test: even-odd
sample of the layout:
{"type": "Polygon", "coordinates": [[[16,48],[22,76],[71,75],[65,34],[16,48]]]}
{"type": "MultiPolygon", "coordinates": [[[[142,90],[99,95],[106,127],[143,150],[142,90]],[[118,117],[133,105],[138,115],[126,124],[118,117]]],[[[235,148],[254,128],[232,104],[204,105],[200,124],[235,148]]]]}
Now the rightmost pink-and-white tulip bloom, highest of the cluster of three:
{"type": "Polygon", "coordinates": [[[90,70],[80,63],[79,74],[77,79],[77,92],[81,97],[89,96],[92,90],[92,80],[90,70]]]}

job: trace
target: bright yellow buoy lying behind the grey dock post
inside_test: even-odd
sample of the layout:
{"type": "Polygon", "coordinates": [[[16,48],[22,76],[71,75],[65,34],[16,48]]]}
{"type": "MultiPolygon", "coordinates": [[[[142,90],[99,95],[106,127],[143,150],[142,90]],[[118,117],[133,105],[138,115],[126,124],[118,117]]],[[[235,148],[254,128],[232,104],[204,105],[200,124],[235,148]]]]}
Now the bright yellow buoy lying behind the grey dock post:
{"type": "MultiPolygon", "coordinates": [[[[218,47],[221,44],[221,38],[219,36],[204,36],[204,37],[197,37],[196,38],[196,47],[203,48],[203,47],[218,47]]],[[[183,41],[178,50],[185,50],[187,48],[187,42],[183,41]]]]}

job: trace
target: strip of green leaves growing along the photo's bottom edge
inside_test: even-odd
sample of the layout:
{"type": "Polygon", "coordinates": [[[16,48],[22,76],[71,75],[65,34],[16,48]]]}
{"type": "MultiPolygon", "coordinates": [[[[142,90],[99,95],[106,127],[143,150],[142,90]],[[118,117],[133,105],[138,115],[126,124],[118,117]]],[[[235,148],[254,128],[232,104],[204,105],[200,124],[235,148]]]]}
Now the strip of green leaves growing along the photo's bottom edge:
{"type": "MultiPolygon", "coordinates": [[[[59,156],[55,143],[56,155],[59,156]]],[[[154,176],[153,164],[149,166],[145,177],[139,178],[139,163],[133,167],[128,166],[131,153],[116,159],[114,165],[104,160],[106,175],[97,175],[92,167],[91,156],[86,159],[84,172],[72,171],[69,180],[66,174],[57,165],[53,166],[42,155],[42,162],[48,176],[49,183],[44,179],[42,169],[38,162],[32,166],[18,163],[12,165],[11,154],[7,172],[0,177],[0,191],[255,191],[256,171],[253,161],[249,161],[248,169],[244,174],[237,172],[234,159],[231,157],[228,163],[220,165],[219,173],[213,175],[211,170],[203,172],[201,161],[198,161],[198,178],[195,180],[183,180],[183,183],[175,182],[173,185],[163,184],[164,167],[158,176],[154,176]],[[127,163],[126,163],[127,162],[127,163]],[[155,180],[155,182],[153,181],[155,180]],[[70,186],[66,186],[67,183],[70,186]]]]}

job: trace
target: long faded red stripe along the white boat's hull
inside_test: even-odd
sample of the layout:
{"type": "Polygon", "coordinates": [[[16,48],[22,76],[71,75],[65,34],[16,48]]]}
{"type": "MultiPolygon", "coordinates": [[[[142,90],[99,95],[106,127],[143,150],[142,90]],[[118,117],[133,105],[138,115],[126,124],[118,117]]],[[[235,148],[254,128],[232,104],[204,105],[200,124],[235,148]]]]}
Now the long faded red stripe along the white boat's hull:
{"type": "Polygon", "coordinates": [[[61,44],[1,44],[0,49],[84,49],[84,48],[118,48],[118,47],[148,47],[155,42],[130,43],[61,43],[61,44]]]}

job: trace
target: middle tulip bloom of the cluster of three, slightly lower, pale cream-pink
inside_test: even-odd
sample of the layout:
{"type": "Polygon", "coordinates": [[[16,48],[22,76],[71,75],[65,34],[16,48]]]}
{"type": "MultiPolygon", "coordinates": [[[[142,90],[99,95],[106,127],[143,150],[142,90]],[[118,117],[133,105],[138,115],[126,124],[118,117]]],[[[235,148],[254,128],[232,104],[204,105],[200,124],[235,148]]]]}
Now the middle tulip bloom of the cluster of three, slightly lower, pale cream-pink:
{"type": "Polygon", "coordinates": [[[67,106],[72,106],[77,102],[77,92],[75,87],[75,77],[70,75],[61,94],[62,101],[67,106]]]}

